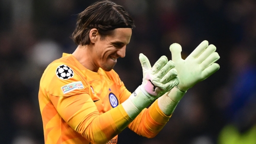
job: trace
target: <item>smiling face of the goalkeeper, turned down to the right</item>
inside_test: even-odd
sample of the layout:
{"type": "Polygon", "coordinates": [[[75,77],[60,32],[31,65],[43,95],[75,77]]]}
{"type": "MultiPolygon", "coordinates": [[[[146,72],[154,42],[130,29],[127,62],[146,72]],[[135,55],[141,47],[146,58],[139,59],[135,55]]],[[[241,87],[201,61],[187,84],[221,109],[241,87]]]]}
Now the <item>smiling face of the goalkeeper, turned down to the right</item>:
{"type": "Polygon", "coordinates": [[[130,42],[130,38],[130,28],[118,28],[114,29],[113,34],[106,36],[103,40],[97,39],[91,55],[94,64],[104,71],[111,71],[117,58],[125,57],[126,45],[130,42]]]}

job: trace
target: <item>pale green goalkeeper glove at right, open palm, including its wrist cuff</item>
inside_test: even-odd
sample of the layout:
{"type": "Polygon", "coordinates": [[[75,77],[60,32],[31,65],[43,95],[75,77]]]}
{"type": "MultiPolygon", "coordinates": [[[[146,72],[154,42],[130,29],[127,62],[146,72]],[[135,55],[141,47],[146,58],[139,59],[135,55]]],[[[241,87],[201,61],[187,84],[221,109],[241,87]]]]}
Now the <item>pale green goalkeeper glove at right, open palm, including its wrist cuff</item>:
{"type": "Polygon", "coordinates": [[[208,41],[200,43],[185,60],[181,58],[181,50],[178,43],[173,43],[170,46],[172,60],[175,62],[178,72],[179,84],[158,100],[160,109],[166,115],[173,113],[176,105],[189,88],[208,78],[220,68],[217,63],[214,63],[220,56],[215,52],[214,45],[208,46],[208,41]]]}

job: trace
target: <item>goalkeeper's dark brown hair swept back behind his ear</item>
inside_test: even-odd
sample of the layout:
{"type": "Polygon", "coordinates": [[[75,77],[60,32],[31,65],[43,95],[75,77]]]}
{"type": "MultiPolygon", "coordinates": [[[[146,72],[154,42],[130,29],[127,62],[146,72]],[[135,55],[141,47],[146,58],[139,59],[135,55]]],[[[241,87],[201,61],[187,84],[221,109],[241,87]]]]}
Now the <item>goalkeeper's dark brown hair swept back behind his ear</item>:
{"type": "Polygon", "coordinates": [[[77,45],[90,44],[89,32],[96,28],[102,38],[111,35],[116,28],[135,28],[132,18],[116,3],[97,1],[78,14],[72,39],[77,45]]]}

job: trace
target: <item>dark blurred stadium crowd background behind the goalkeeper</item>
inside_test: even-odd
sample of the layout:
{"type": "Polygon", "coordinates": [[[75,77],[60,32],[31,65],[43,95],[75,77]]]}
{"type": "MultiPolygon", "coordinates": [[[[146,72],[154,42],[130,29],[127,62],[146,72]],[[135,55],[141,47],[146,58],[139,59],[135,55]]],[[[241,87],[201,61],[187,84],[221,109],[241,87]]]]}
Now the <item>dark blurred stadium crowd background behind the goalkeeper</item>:
{"type": "MultiPolygon", "coordinates": [[[[0,0],[0,144],[44,144],[38,104],[42,73],[72,53],[76,17],[95,0],[0,0]]],[[[114,70],[128,90],[142,82],[139,53],[153,64],[179,43],[183,58],[203,40],[221,68],[189,89],[153,139],[126,129],[119,144],[256,144],[256,1],[113,0],[135,20],[114,70]]]]}

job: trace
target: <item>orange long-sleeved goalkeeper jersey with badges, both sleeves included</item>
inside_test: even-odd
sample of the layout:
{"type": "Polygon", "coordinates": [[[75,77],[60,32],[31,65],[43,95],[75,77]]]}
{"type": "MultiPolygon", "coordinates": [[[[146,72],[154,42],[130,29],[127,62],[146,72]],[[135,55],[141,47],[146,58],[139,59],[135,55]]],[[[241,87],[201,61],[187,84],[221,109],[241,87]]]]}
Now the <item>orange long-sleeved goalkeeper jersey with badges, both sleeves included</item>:
{"type": "Polygon", "coordinates": [[[169,120],[157,102],[134,120],[122,106],[130,96],[113,70],[92,72],[71,54],[53,61],[39,88],[39,105],[46,144],[116,144],[127,126],[154,137],[169,120]]]}

